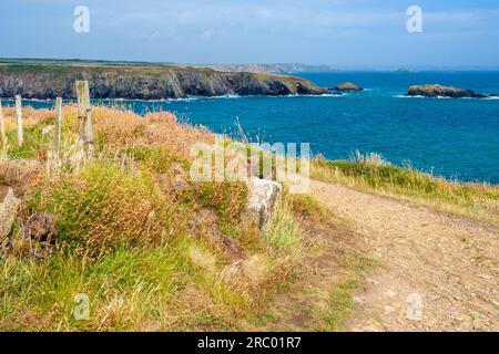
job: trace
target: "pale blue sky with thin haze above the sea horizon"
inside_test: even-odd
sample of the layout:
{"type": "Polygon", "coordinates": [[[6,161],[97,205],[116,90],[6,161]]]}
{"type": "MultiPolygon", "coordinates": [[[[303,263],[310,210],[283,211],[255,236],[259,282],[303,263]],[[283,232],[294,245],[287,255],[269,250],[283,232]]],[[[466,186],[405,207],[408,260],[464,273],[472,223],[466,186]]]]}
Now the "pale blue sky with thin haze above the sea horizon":
{"type": "Polygon", "coordinates": [[[498,0],[2,0],[1,58],[499,66],[498,0]],[[77,6],[90,33],[73,30],[77,6]],[[406,10],[422,9],[422,33],[406,10]]]}

